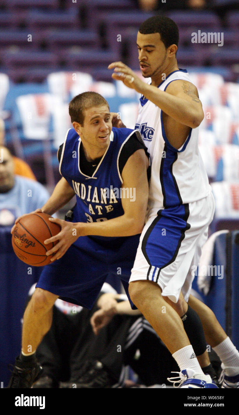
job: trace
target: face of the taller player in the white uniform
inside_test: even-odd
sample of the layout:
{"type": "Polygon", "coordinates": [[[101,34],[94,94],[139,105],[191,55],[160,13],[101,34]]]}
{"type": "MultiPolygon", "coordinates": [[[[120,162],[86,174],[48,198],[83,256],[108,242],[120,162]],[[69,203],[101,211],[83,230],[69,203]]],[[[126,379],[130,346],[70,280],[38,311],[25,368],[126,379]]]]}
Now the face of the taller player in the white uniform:
{"type": "Polygon", "coordinates": [[[142,34],[138,32],[140,70],[144,78],[162,76],[167,67],[167,49],[159,33],[142,34]]]}

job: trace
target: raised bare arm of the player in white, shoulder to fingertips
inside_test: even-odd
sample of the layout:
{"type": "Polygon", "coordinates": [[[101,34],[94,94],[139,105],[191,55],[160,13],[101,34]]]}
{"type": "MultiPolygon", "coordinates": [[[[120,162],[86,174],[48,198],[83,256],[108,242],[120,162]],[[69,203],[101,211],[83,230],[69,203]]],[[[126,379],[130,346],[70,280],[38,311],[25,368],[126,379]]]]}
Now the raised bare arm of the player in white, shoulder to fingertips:
{"type": "Polygon", "coordinates": [[[198,127],[202,122],[204,118],[202,104],[198,99],[197,88],[191,82],[173,81],[168,85],[167,91],[161,91],[156,86],[143,82],[122,62],[113,62],[108,68],[114,70],[113,79],[122,81],[128,88],[133,88],[144,95],[175,121],[191,128],[198,127]]]}

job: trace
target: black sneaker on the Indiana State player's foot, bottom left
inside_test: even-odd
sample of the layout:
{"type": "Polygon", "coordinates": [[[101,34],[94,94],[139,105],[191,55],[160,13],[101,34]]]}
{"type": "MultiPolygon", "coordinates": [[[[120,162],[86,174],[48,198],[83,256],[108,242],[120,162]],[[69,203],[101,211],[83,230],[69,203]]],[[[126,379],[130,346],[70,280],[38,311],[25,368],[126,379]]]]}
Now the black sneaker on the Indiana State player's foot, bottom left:
{"type": "Polygon", "coordinates": [[[31,388],[32,384],[39,379],[43,371],[41,365],[36,361],[34,366],[26,364],[17,357],[12,366],[12,376],[7,388],[31,388]]]}

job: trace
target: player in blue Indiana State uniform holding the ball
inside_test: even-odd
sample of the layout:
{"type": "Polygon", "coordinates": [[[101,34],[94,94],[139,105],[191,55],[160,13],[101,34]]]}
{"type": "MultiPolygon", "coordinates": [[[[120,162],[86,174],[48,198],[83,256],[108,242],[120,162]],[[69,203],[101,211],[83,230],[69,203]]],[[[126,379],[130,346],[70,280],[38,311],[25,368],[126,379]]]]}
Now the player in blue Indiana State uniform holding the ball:
{"type": "Polygon", "coordinates": [[[30,388],[38,378],[35,351],[58,297],[92,308],[107,274],[120,276],[128,293],[145,223],[150,160],[138,130],[112,128],[109,105],[95,92],[73,98],[69,113],[74,128],[58,151],[63,177],[41,211],[52,215],[74,195],[76,205],[72,222],[51,219],[61,232],[45,244],[59,242],[47,252],[54,259],[25,310],[22,352],[9,388],[30,388]]]}

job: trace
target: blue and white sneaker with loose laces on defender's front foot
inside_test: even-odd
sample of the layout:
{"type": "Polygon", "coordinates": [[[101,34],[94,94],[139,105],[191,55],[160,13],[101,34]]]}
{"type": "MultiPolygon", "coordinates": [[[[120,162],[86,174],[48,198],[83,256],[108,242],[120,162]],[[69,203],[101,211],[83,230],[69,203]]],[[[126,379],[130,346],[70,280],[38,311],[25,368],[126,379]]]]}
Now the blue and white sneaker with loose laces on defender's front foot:
{"type": "Polygon", "coordinates": [[[183,369],[181,372],[172,373],[179,374],[174,378],[167,378],[169,382],[174,384],[175,388],[217,388],[210,375],[197,373],[193,369],[183,369]],[[176,383],[179,384],[176,385],[176,383]]]}

